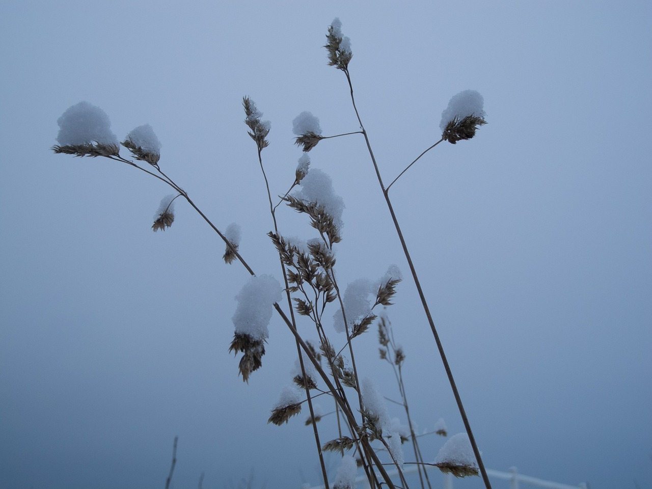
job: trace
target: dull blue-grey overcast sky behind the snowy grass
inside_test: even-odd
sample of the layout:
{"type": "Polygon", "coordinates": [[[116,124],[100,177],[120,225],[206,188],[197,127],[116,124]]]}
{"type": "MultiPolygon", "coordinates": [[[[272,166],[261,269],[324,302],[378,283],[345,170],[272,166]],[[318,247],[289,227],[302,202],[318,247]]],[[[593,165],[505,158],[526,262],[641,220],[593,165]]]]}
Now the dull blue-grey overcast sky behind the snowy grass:
{"type": "MultiPolygon", "coordinates": [[[[241,100],[271,121],[263,158],[282,194],[301,156],[297,114],[312,111],[325,135],[359,128],[322,47],[339,17],[385,181],[439,139],[452,95],[484,96],[488,125],[437,146],[391,197],[485,465],[652,488],[652,4],[223,4],[0,7],[0,487],[162,488],[177,435],[177,489],[202,472],[211,489],[250,473],[252,489],[320,482],[304,415],[267,424],[290,382],[287,328],[273,318],[248,385],[228,354],[244,268],[224,264],[224,245],[181,201],[173,226],[151,231],[170,193],[160,181],[50,147],[57,118],[81,100],[103,108],[121,140],[151,124],[162,170],[222,230],[241,224],[245,259],[280,278],[241,100]]],[[[392,263],[407,274],[361,136],[322,141],[310,156],[346,204],[340,283],[392,263]]],[[[289,209],[279,226],[314,236],[289,209]]],[[[461,432],[409,280],[387,312],[420,429],[443,417],[461,432]]],[[[359,368],[398,397],[376,333],[356,348],[359,368]]],[[[336,436],[333,422],[323,439],[336,436]]],[[[426,459],[444,441],[422,440],[426,459]]]]}

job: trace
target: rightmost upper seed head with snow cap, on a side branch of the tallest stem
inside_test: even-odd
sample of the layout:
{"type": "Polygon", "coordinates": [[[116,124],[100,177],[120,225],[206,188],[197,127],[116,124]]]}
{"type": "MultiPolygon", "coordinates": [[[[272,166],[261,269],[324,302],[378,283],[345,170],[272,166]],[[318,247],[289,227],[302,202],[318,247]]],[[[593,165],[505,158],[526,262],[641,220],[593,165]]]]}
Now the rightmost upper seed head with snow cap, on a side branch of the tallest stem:
{"type": "Polygon", "coordinates": [[[470,140],[478,126],[486,124],[485,117],[482,95],[475,90],[464,90],[452,96],[448,107],[441,113],[441,137],[452,144],[470,140]]]}

